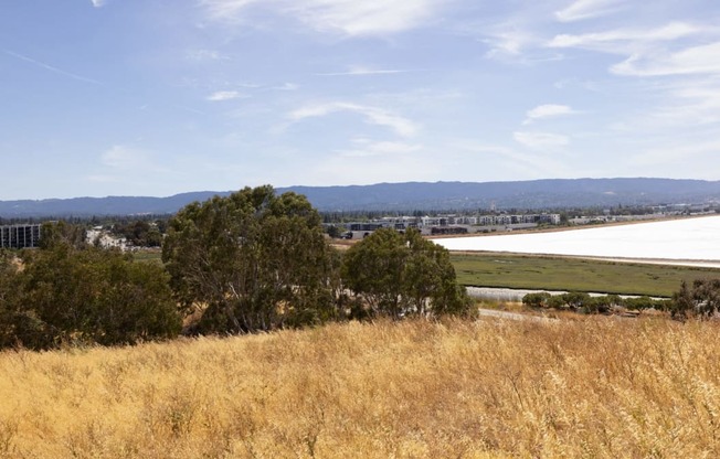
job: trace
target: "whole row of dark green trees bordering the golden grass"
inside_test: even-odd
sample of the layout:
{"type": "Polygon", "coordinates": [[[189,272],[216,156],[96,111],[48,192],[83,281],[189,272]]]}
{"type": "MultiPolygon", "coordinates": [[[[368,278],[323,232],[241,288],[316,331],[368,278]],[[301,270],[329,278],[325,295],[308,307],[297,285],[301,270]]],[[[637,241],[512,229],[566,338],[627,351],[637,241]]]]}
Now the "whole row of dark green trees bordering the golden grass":
{"type": "MultiPolygon", "coordinates": [[[[446,249],[382,230],[340,253],[304,195],[246,188],[180,210],[162,264],[43,224],[40,249],[0,253],[0,346],[52,349],[253,333],[328,321],[473,313],[446,249]]],[[[155,228],[121,228],[138,239],[155,228]]]]}

